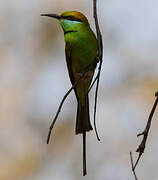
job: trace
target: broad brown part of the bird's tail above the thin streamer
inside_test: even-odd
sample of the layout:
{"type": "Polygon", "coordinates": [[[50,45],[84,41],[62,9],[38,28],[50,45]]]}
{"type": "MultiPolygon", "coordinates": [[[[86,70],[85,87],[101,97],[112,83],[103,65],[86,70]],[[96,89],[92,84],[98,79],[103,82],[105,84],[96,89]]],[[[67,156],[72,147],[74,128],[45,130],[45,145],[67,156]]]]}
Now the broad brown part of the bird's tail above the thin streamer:
{"type": "Polygon", "coordinates": [[[89,99],[85,96],[84,101],[78,99],[77,120],[76,120],[76,134],[92,130],[89,117],[89,99]]]}

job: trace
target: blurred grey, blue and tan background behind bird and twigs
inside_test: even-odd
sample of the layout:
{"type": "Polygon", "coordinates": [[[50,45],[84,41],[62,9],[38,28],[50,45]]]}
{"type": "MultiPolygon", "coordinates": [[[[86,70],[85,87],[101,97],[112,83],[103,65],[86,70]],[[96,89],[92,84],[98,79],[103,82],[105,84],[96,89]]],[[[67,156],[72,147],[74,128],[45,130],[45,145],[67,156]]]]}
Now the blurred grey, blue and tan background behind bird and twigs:
{"type": "MultiPolygon", "coordinates": [[[[87,139],[88,175],[82,177],[82,138],[75,135],[76,99],[67,98],[46,145],[49,125],[69,89],[64,36],[41,13],[83,12],[95,30],[92,0],[0,1],[0,180],[132,180],[129,152],[158,90],[157,0],[98,0],[104,41],[97,126],[87,139]]],[[[93,121],[94,90],[90,93],[93,121]]],[[[137,167],[158,179],[158,111],[137,167]]],[[[134,158],[137,154],[134,153],[134,158]]]]}

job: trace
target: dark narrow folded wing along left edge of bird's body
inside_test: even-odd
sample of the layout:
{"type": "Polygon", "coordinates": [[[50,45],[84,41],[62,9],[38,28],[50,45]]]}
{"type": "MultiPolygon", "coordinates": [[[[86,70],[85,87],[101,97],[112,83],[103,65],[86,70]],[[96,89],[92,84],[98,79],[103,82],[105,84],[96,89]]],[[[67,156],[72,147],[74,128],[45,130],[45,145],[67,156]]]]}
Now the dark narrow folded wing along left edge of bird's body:
{"type": "Polygon", "coordinates": [[[65,55],[66,55],[66,63],[69,71],[69,77],[71,80],[72,85],[75,83],[75,77],[72,72],[72,57],[71,57],[71,45],[66,43],[65,46],[65,55]]]}

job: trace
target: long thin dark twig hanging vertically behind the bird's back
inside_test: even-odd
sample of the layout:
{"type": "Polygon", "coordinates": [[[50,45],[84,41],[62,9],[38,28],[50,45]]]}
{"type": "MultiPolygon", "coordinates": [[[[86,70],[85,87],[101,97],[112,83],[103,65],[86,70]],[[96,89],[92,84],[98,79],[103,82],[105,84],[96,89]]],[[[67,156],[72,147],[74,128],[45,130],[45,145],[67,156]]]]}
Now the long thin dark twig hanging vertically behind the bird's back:
{"type": "MultiPolygon", "coordinates": [[[[93,16],[94,16],[94,20],[95,20],[97,40],[98,40],[98,59],[100,61],[97,76],[92,83],[92,86],[93,86],[94,83],[97,81],[96,91],[95,91],[95,103],[94,103],[94,128],[95,128],[97,139],[98,139],[98,141],[100,141],[100,138],[99,138],[98,132],[97,132],[97,127],[96,127],[96,108],[97,108],[97,97],[98,97],[98,88],[99,88],[99,81],[100,81],[100,72],[101,72],[102,58],[103,58],[103,41],[102,41],[102,35],[100,32],[99,23],[98,23],[97,0],[93,0],[93,16]]],[[[90,89],[92,88],[92,86],[90,87],[90,89]]]]}

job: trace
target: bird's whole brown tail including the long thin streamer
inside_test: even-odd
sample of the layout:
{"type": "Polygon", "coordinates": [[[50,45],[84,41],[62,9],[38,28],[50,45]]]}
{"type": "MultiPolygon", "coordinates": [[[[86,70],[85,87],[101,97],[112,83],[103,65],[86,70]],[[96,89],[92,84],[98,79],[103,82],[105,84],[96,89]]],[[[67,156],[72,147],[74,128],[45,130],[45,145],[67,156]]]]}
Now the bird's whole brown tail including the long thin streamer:
{"type": "Polygon", "coordinates": [[[86,131],[92,130],[89,117],[89,99],[86,95],[84,101],[78,99],[76,134],[83,135],[83,176],[87,174],[86,170],[86,131]]]}

